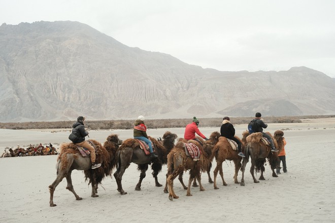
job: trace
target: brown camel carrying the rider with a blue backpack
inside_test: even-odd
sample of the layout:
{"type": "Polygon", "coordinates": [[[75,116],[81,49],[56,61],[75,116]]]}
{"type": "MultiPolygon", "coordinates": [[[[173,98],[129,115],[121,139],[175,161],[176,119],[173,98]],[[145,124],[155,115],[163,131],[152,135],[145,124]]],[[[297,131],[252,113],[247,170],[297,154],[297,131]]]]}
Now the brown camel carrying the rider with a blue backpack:
{"type": "MultiPolygon", "coordinates": [[[[266,132],[269,134],[272,138],[273,136],[271,133],[266,132]]],[[[270,167],[272,169],[272,176],[273,177],[278,177],[278,175],[275,172],[275,169],[277,167],[278,163],[278,153],[277,152],[271,152],[271,147],[270,145],[266,145],[261,141],[262,138],[262,133],[257,132],[257,133],[252,133],[249,135],[248,131],[245,131],[243,133],[243,139],[242,142],[246,142],[245,150],[244,150],[244,155],[246,157],[243,158],[242,162],[242,179],[241,179],[241,185],[244,186],[244,171],[247,163],[249,162],[249,157],[251,157],[251,167],[250,167],[250,173],[252,175],[252,178],[255,183],[259,183],[258,180],[256,180],[255,175],[254,175],[254,170],[256,169],[256,172],[260,172],[260,180],[265,180],[263,176],[263,172],[265,171],[264,163],[266,162],[266,158],[269,160],[270,167]]],[[[277,141],[273,140],[275,147],[277,147],[277,141]]]]}

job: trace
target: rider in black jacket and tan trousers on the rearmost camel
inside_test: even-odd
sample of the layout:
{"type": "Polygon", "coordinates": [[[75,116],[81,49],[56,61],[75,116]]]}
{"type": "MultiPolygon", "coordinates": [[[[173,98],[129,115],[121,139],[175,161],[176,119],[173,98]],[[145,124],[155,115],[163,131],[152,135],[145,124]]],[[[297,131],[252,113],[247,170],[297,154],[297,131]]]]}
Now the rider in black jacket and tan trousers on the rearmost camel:
{"type": "Polygon", "coordinates": [[[77,122],[72,126],[72,134],[77,136],[77,139],[73,140],[73,143],[89,150],[91,153],[91,169],[95,169],[100,167],[101,163],[95,163],[95,149],[91,144],[85,141],[85,136],[88,136],[88,132],[85,130],[84,121],[85,117],[79,116],[77,122]]]}

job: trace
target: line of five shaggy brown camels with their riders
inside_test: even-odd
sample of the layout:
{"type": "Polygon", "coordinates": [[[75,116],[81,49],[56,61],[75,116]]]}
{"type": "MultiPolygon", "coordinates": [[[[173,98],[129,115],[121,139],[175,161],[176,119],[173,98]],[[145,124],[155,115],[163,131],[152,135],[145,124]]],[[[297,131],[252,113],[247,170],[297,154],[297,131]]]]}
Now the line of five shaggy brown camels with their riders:
{"type": "Polygon", "coordinates": [[[213,132],[209,138],[199,131],[197,128],[199,121],[194,117],[192,123],[186,126],[183,138],[166,131],[162,137],[155,139],[147,135],[144,117],[140,116],[135,122],[134,138],[122,141],[118,135],[111,134],[101,144],[93,139],[85,141],[85,136],[88,135],[84,128],[85,118],[78,117],[72,131],[77,136],[69,136],[72,142],[60,145],[56,179],[49,185],[50,206],[56,206],[53,195],[63,178],[66,178],[66,189],[74,194],[76,200],[82,200],[73,188],[71,179],[73,170],[84,171],[85,181],[91,184],[91,197],[98,197],[98,185],[105,177],[112,176],[114,170],[113,175],[117,183],[117,191],[121,195],[127,194],[122,188],[122,176],[126,173],[130,163],[137,164],[140,171],[140,179],[135,186],[136,191],[141,191],[141,184],[146,177],[149,166],[152,169],[155,186],[162,187],[162,184],[158,182],[157,175],[161,172],[162,165],[167,165],[168,171],[163,192],[169,194],[171,201],[179,198],[173,187],[174,179],[177,176],[183,189],[187,191],[186,196],[192,196],[190,192],[192,182],[193,187],[199,187],[200,191],[205,191],[201,181],[202,172],[207,172],[208,180],[213,183],[214,189],[219,189],[216,180],[218,173],[221,176],[222,185],[226,186],[227,183],[223,178],[222,169],[222,163],[226,160],[235,164],[234,182],[243,186],[245,185],[244,172],[249,159],[251,160],[250,173],[255,183],[259,182],[254,176],[255,170],[261,173],[259,180],[265,179],[263,172],[267,160],[273,171],[272,176],[278,177],[274,170],[280,168],[278,152],[283,150],[284,133],[281,130],[277,130],[274,133],[275,136],[272,136],[270,132],[263,133],[259,130],[260,128],[266,128],[267,125],[260,120],[260,114],[257,113],[255,119],[261,121],[261,126],[257,127],[254,124],[250,131],[243,132],[242,139],[235,135],[235,129],[228,117],[223,119],[220,133],[213,132]],[[266,137],[264,137],[264,134],[266,134],[266,137]],[[272,142],[267,136],[271,138],[272,142]],[[92,148],[87,148],[88,145],[84,146],[83,142],[89,144],[92,148]],[[92,153],[95,155],[93,158],[92,153]],[[214,158],[216,167],[213,171],[213,181],[210,171],[214,158]],[[183,173],[187,170],[189,171],[189,180],[186,186],[183,182],[183,173]],[[240,170],[242,171],[242,178],[239,182],[238,172],[240,170]]]}

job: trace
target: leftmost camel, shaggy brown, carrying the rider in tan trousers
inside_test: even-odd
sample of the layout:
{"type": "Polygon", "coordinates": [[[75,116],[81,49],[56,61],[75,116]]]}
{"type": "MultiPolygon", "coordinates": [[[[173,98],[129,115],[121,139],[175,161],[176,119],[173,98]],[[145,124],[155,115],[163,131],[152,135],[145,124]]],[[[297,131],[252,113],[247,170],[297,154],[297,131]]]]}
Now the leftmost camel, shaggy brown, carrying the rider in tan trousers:
{"type": "Polygon", "coordinates": [[[92,185],[92,197],[98,197],[96,194],[98,183],[101,183],[105,176],[112,174],[112,170],[115,167],[114,153],[116,148],[122,143],[122,140],[120,140],[117,135],[110,135],[105,144],[110,144],[113,148],[109,147],[108,150],[98,141],[92,139],[90,141],[96,146],[96,161],[102,163],[100,168],[91,169],[90,157],[82,157],[80,152],[76,150],[77,146],[72,142],[62,143],[60,145],[60,154],[57,158],[57,177],[49,186],[50,207],[56,206],[56,204],[53,203],[53,193],[64,177],[66,177],[66,181],[68,182],[66,189],[75,195],[76,200],[82,200],[73,189],[71,179],[73,170],[84,170],[86,180],[89,178],[89,183],[92,185]]]}

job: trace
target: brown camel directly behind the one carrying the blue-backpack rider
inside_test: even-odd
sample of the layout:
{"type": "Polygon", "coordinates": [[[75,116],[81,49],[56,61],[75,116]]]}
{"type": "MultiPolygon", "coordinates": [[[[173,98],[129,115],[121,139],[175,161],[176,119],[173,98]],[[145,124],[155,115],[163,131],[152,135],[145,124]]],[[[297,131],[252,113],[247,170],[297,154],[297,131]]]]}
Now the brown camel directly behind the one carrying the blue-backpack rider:
{"type": "MultiPolygon", "coordinates": [[[[239,139],[241,141],[241,139],[237,136],[235,136],[237,139],[239,139]]],[[[242,142],[242,151],[244,148],[244,144],[242,142]]],[[[223,179],[223,170],[222,170],[222,163],[225,160],[232,160],[235,164],[235,175],[234,175],[234,181],[235,183],[240,183],[238,181],[238,173],[239,170],[242,166],[242,157],[240,157],[238,155],[238,151],[235,151],[232,149],[230,143],[228,142],[226,137],[221,136],[219,138],[218,143],[215,144],[214,148],[213,148],[213,154],[216,160],[216,167],[214,169],[214,189],[219,189],[216,185],[216,176],[218,174],[218,172],[220,172],[220,176],[223,182],[223,185],[226,186],[227,183],[224,181],[223,179]]]]}

